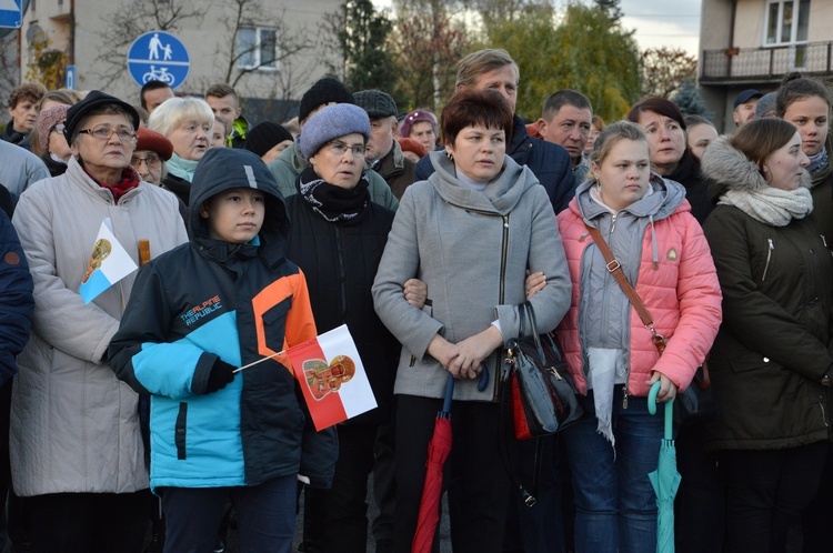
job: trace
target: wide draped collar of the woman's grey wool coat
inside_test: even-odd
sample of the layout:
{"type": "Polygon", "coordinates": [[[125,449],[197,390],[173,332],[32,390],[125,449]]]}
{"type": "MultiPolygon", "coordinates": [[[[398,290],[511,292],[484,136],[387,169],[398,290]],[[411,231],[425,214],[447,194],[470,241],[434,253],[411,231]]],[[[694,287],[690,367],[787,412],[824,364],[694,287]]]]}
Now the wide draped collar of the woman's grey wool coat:
{"type": "Polygon", "coordinates": [[[435,170],[429,182],[443,200],[462,208],[496,211],[505,215],[528,189],[539,184],[526,165],[519,165],[506,154],[503,158],[503,169],[481,193],[458,180],[454,162],[445,155],[444,150],[433,151],[429,153],[429,158],[435,170]]]}

